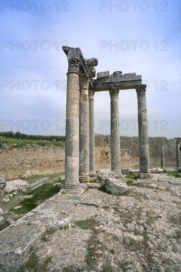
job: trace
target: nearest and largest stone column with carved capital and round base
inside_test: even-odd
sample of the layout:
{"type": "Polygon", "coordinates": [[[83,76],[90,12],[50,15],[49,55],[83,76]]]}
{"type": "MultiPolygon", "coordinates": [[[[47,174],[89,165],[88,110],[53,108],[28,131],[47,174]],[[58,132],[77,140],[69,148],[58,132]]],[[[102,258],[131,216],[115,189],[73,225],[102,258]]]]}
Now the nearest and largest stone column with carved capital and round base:
{"type": "Polygon", "coordinates": [[[69,59],[67,73],[65,183],[63,190],[80,193],[79,182],[79,69],[78,57],[69,59]]]}

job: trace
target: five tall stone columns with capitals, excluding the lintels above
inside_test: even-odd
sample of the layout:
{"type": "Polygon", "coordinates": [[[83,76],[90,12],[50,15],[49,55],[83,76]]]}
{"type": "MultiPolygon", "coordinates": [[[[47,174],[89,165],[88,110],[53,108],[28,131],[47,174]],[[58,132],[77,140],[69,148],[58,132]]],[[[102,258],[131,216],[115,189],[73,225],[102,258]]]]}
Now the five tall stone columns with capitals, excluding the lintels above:
{"type": "MultiPolygon", "coordinates": [[[[89,181],[94,172],[94,91],[89,78],[80,72],[80,59],[68,60],[66,103],[66,148],[64,190],[79,193],[80,182],[89,181]]],[[[140,178],[148,178],[149,145],[146,110],[146,85],[136,87],[138,105],[140,178]]],[[[111,171],[121,177],[119,89],[109,90],[111,101],[111,171]]]]}

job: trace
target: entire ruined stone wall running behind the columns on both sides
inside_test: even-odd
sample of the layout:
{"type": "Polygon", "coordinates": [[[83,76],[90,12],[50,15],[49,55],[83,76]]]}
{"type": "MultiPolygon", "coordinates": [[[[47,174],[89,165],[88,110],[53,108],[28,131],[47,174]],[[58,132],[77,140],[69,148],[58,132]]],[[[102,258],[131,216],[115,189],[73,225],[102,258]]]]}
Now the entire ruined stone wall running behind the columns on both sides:
{"type": "MultiPolygon", "coordinates": [[[[176,167],[176,140],[149,137],[150,167],[161,167],[161,144],[165,146],[165,166],[176,167]]],[[[138,137],[121,136],[121,167],[139,168],[138,137]]],[[[118,147],[119,148],[119,147],[118,147]]],[[[65,148],[27,146],[0,149],[0,173],[5,179],[64,171],[65,148]]],[[[95,135],[95,168],[111,167],[109,135],[95,135]]]]}

